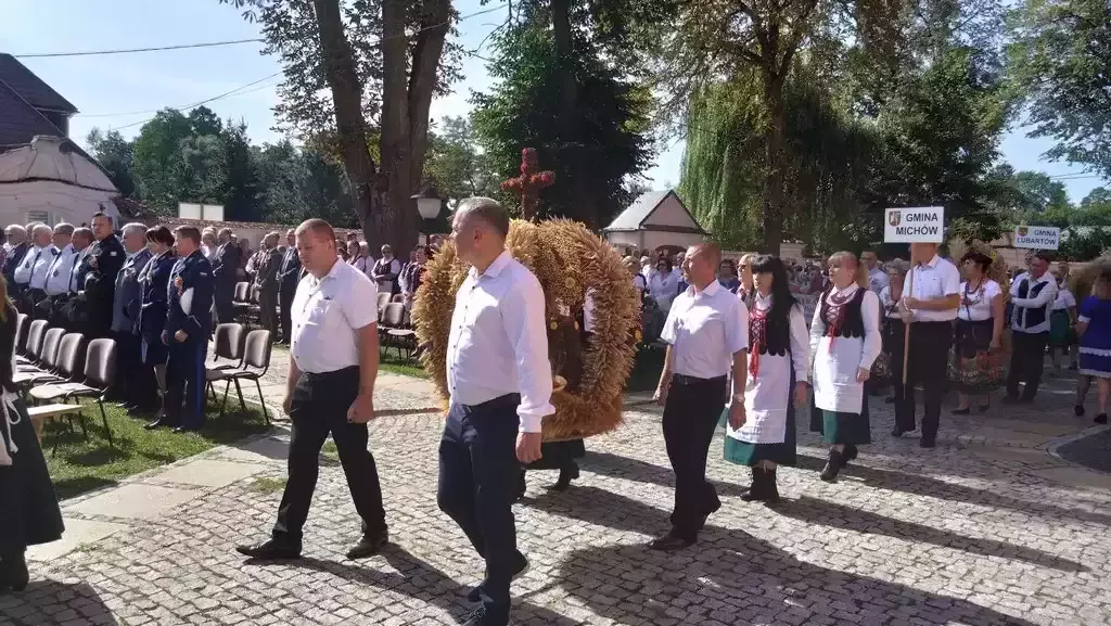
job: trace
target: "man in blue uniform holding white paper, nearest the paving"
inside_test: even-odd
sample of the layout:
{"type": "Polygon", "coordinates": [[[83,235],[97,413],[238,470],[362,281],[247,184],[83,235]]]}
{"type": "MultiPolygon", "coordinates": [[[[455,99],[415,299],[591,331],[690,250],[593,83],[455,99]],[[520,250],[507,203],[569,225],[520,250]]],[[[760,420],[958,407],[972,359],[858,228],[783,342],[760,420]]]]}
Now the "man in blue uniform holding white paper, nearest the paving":
{"type": "Polygon", "coordinates": [[[178,262],[167,288],[168,310],[162,344],[169,346],[166,406],[147,428],[171,426],[174,433],[200,430],[204,424],[204,357],[212,334],[212,264],[201,252],[201,231],[173,230],[178,262]],[[184,403],[184,408],[182,408],[184,403]]]}

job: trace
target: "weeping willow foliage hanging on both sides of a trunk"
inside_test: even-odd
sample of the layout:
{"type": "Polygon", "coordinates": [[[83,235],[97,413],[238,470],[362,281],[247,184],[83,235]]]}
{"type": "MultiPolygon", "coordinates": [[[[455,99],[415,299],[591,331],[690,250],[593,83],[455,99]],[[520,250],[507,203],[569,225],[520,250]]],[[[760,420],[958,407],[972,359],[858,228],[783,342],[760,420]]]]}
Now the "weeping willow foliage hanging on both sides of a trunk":
{"type": "MultiPolygon", "coordinates": [[[[751,71],[701,89],[688,112],[680,192],[722,245],[765,247],[767,107],[751,71]]],[[[879,152],[872,126],[850,118],[803,72],[784,86],[785,130],[779,166],[784,206],[780,232],[819,249],[860,238],[857,220],[879,152]]]]}

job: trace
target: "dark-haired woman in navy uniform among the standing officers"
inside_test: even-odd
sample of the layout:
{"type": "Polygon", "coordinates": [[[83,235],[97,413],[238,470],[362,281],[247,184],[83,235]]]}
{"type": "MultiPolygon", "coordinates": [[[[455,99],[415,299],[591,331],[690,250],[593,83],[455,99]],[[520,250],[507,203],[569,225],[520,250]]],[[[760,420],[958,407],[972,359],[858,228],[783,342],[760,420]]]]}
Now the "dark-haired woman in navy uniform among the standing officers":
{"type": "MultiPolygon", "coordinates": [[[[162,330],[166,328],[166,316],[169,311],[170,272],[178,261],[173,252],[173,233],[164,226],[147,230],[147,248],[153,255],[147,266],[139,272],[139,287],[142,289],[139,309],[139,337],[142,340],[142,365],[154,370],[158,381],[159,397],[166,398],[166,361],[170,356],[169,347],[162,342],[162,330]]],[[[157,424],[162,419],[163,407],[154,417],[157,424]]]]}

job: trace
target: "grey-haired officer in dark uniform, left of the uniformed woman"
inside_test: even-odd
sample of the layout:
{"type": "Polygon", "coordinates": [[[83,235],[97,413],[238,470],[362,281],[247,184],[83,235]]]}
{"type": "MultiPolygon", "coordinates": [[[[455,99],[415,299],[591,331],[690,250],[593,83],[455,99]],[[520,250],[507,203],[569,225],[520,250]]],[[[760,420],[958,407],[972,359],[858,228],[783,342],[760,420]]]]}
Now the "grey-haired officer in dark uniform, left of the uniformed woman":
{"type": "Polygon", "coordinates": [[[122,406],[132,413],[154,409],[154,380],[151,370],[140,361],[139,307],[142,288],[139,272],[147,267],[151,254],[147,249],[147,225],[132,222],[123,227],[123,250],[127,260],[116,275],[112,292],[112,337],[116,338],[119,386],[122,406]]]}

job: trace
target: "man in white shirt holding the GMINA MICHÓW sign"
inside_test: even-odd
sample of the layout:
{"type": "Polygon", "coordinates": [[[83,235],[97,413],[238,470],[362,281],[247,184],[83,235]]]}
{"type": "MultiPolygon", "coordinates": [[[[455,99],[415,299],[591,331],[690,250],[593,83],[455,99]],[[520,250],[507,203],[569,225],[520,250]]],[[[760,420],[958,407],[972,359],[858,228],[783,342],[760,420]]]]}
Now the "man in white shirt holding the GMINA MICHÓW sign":
{"type": "Polygon", "coordinates": [[[937,244],[911,244],[910,258],[914,264],[913,277],[907,275],[907,285],[912,286],[912,291],[904,291],[900,300],[902,318],[910,332],[907,385],[902,385],[902,361],[891,364],[895,381],[895,428],[891,436],[902,437],[903,433],[917,429],[914,386],[921,384],[925,414],[919,445],[932,448],[941,423],[941,399],[949,380],[949,347],[953,342],[953,320],[961,304],[961,274],[953,264],[938,256],[937,244]]]}

